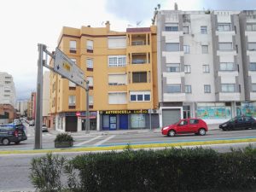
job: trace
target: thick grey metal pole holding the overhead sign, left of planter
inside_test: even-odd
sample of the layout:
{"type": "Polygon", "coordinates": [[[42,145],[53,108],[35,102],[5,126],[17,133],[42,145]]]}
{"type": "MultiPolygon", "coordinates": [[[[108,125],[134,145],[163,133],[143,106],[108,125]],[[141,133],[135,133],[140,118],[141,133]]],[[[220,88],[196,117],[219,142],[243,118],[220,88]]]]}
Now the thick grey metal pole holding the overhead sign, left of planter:
{"type": "Polygon", "coordinates": [[[36,101],[35,149],[42,148],[42,100],[43,100],[43,53],[44,44],[38,44],[38,81],[36,101]]]}

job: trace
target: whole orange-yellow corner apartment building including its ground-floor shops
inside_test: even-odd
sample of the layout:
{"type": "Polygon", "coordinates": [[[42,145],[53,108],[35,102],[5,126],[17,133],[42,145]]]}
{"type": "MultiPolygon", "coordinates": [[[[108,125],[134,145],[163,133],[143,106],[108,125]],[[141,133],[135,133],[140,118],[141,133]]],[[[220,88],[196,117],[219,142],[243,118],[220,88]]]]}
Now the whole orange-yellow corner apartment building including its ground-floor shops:
{"type": "MultiPolygon", "coordinates": [[[[105,27],[63,27],[58,48],[89,81],[90,130],[159,127],[156,26],[113,32],[105,27]],[[150,122],[151,119],[151,122],[150,122]]],[[[85,131],[85,90],[50,73],[51,127],[85,131]]]]}

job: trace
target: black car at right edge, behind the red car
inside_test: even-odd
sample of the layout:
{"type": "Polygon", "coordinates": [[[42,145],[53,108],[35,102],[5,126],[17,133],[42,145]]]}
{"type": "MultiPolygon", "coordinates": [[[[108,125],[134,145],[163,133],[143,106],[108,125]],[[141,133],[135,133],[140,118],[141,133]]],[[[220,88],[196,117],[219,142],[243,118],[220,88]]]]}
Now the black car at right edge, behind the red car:
{"type": "Polygon", "coordinates": [[[218,127],[223,131],[256,129],[256,120],[251,116],[236,116],[218,127]]]}

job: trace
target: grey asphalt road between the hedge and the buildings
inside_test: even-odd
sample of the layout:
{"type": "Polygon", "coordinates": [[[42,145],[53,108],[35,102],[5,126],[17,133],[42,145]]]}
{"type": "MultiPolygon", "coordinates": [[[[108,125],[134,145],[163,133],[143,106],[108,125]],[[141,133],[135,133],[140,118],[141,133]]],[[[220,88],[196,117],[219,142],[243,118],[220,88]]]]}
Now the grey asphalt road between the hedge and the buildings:
{"type": "MultiPolygon", "coordinates": [[[[27,127],[28,140],[20,143],[20,145],[0,145],[0,151],[27,148],[34,146],[34,128],[27,127]]],[[[202,141],[219,141],[219,140],[234,140],[244,138],[256,138],[256,130],[247,131],[219,131],[212,130],[205,137],[195,135],[164,137],[160,131],[137,131],[137,132],[98,132],[91,135],[73,134],[75,143],[74,148],[83,147],[99,147],[99,146],[117,146],[148,143],[190,143],[202,141]]],[[[43,148],[54,148],[54,133],[43,133],[43,148]]],[[[248,143],[233,143],[233,144],[214,144],[204,145],[204,148],[213,148],[218,152],[230,151],[230,148],[244,148],[248,143]]],[[[195,146],[194,146],[195,147],[195,146]]],[[[256,143],[253,143],[253,148],[256,148],[256,143]]],[[[77,154],[88,153],[65,153],[68,158],[73,158],[77,154]]],[[[44,154],[0,154],[0,191],[34,191],[32,183],[29,180],[30,163],[33,157],[42,156],[44,154]]]]}

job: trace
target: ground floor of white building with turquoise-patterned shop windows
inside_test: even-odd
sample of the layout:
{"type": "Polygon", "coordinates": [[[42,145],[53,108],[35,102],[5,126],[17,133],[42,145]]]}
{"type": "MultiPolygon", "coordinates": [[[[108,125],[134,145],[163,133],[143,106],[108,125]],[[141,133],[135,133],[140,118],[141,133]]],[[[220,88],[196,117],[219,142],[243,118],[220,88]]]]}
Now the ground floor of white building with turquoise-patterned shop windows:
{"type": "Polygon", "coordinates": [[[178,119],[200,118],[207,124],[219,124],[238,115],[256,118],[256,102],[176,102],[160,106],[160,126],[178,119]]]}

